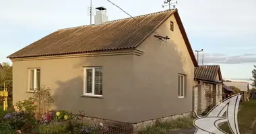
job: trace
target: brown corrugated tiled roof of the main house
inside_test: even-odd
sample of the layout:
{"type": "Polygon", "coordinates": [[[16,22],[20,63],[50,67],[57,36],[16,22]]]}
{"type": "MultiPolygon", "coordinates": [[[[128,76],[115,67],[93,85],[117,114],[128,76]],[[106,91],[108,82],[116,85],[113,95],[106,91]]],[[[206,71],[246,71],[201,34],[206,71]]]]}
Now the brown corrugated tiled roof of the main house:
{"type": "MultiPolygon", "coordinates": [[[[166,19],[174,14],[195,66],[195,55],[185,33],[177,9],[141,15],[133,18],[108,21],[102,25],[84,25],[59,29],[52,34],[22,48],[7,58],[27,58],[36,56],[55,56],[81,54],[107,50],[135,49],[166,19]]],[[[166,36],[166,35],[164,35],[166,36]]]]}

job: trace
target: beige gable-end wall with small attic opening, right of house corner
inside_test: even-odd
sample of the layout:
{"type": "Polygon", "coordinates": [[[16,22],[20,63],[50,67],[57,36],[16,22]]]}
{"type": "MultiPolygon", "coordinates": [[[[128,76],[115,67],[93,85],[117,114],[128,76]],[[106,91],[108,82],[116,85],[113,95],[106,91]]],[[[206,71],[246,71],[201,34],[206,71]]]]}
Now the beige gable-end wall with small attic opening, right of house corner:
{"type": "Polygon", "coordinates": [[[174,16],[156,32],[170,40],[161,42],[151,36],[138,48],[145,51],[143,55],[134,58],[136,121],[192,111],[194,65],[174,16]],[[174,31],[170,31],[170,20],[174,22],[174,31]],[[179,73],[187,75],[184,99],[178,98],[179,73]]]}

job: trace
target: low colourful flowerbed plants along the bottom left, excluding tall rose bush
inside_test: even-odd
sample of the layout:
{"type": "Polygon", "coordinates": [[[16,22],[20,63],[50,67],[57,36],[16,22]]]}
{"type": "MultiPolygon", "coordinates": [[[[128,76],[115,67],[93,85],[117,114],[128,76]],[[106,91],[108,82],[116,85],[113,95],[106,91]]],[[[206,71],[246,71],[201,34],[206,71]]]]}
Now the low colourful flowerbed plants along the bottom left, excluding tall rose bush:
{"type": "Polygon", "coordinates": [[[68,111],[49,112],[41,120],[36,120],[34,113],[11,111],[0,119],[0,134],[89,134],[108,133],[110,129],[110,125],[81,123],[81,116],[68,111]]]}

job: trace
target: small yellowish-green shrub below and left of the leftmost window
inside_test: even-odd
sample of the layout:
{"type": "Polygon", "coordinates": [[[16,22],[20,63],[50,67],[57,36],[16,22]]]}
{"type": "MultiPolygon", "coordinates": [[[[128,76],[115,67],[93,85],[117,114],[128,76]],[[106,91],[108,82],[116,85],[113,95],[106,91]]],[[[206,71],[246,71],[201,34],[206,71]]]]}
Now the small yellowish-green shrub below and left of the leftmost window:
{"type": "Polygon", "coordinates": [[[33,113],[36,111],[36,105],[34,105],[34,98],[28,98],[28,100],[19,100],[16,104],[18,111],[26,111],[28,113],[33,113]]]}

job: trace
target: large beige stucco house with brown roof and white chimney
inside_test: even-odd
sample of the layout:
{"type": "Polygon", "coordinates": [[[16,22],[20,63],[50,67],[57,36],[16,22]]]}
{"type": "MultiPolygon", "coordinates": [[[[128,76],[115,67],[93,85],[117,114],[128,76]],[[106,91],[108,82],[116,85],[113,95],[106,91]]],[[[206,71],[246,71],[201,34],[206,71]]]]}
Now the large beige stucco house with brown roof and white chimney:
{"type": "Polygon", "coordinates": [[[52,109],[90,118],[139,124],[189,115],[197,61],[177,9],[115,21],[97,9],[97,24],[59,29],[8,56],[13,104],[46,85],[52,109]]]}

